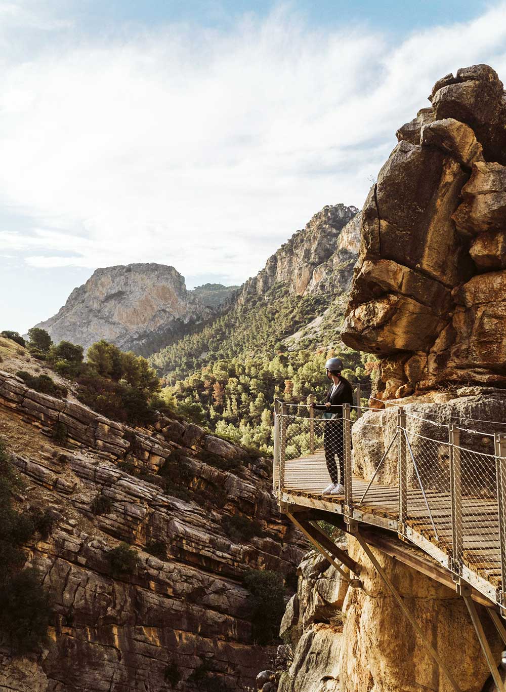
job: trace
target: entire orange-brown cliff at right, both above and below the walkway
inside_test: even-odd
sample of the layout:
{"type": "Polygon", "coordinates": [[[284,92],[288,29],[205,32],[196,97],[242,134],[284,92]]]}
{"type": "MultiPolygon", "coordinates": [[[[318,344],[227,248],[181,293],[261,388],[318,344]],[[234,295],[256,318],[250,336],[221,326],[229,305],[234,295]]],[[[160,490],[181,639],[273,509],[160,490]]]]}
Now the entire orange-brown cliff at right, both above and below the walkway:
{"type": "MultiPolygon", "coordinates": [[[[477,419],[482,436],[461,430],[460,444],[490,454],[497,426],[485,421],[505,419],[505,93],[494,70],[476,65],[439,80],[430,100],[397,131],[399,143],[366,199],[341,337],[379,356],[373,395],[415,413],[407,423],[412,433],[447,444],[450,420],[465,426],[477,419]]],[[[359,477],[375,473],[396,415],[395,408],[368,411],[354,424],[359,477]]],[[[424,459],[417,445],[415,439],[420,477],[434,489],[431,479],[448,473],[447,457],[424,459]]],[[[477,473],[480,491],[495,473],[491,458],[477,473]]],[[[395,454],[377,480],[397,483],[395,454]]],[[[301,563],[299,590],[281,626],[292,646],[288,666],[280,660],[263,692],[449,691],[361,547],[350,536],[347,544],[364,588],[343,586],[318,556],[301,563]]],[[[485,689],[489,671],[462,599],[373,552],[460,689],[485,689]]],[[[482,622],[489,626],[485,615],[482,622]]],[[[487,637],[498,660],[502,645],[491,630],[487,637]]]]}

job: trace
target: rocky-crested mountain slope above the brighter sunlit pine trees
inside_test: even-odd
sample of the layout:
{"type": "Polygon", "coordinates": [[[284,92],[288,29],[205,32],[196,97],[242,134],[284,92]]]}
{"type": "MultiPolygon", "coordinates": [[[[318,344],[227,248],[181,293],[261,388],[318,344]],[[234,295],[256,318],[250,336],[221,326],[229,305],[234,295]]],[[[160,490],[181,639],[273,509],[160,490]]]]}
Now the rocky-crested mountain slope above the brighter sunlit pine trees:
{"type": "Polygon", "coordinates": [[[282,342],[290,350],[341,345],[359,228],[356,207],[325,206],[228,298],[220,316],[152,354],[151,365],[174,383],[221,358],[272,356],[282,342]]]}

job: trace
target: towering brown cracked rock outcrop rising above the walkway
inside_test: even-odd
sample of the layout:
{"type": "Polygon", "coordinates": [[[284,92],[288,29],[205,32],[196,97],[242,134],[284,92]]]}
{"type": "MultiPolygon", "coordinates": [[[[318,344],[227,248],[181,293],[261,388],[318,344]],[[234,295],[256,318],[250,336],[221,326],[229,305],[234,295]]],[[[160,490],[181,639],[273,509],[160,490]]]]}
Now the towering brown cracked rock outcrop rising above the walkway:
{"type": "Polygon", "coordinates": [[[397,131],[362,212],[344,342],[380,358],[375,396],[506,387],[506,102],[487,65],[439,80],[397,131]]]}

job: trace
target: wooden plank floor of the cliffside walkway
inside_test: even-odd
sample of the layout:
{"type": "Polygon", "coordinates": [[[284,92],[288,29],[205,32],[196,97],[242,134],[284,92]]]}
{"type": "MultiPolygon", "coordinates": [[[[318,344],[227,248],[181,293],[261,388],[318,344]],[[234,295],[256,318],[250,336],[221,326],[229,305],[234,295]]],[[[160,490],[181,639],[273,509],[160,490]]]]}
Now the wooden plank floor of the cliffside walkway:
{"type": "MultiPolygon", "coordinates": [[[[281,487],[283,502],[344,514],[344,497],[322,495],[330,483],[324,450],[285,462],[281,487]]],[[[450,493],[428,491],[427,505],[418,488],[408,489],[405,531],[398,526],[397,487],[373,482],[362,503],[368,481],[353,476],[353,518],[403,534],[440,564],[451,565],[450,493]],[[432,525],[432,521],[435,526],[432,525]]],[[[498,511],[495,498],[466,495],[462,498],[463,575],[487,597],[496,601],[501,587],[498,511]],[[467,571],[469,570],[469,574],[467,571]]]]}

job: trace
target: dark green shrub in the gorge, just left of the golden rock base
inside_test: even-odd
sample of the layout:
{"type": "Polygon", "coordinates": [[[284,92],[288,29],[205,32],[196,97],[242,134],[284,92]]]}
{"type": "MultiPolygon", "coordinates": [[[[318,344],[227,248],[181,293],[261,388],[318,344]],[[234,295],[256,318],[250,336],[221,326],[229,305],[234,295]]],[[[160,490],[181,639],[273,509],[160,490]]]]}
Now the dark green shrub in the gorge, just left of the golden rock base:
{"type": "Polygon", "coordinates": [[[283,579],[270,570],[248,570],[244,585],[251,594],[253,639],[258,644],[270,644],[278,637],[281,618],[285,612],[283,579]]]}

